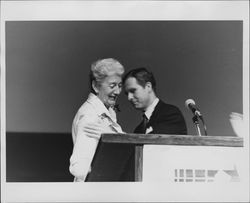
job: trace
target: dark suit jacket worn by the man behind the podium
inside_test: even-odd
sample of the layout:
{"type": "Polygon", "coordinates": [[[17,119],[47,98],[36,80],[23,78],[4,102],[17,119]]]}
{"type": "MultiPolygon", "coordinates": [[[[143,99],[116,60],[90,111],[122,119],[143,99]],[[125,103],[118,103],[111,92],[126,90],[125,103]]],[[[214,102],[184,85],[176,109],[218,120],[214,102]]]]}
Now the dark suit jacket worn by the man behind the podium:
{"type": "MultiPolygon", "coordinates": [[[[150,132],[151,134],[187,134],[186,122],[178,107],[166,104],[161,100],[156,105],[150,117],[149,126],[153,128],[153,131],[150,132]]],[[[142,123],[136,127],[134,132],[143,133],[142,123]]]]}

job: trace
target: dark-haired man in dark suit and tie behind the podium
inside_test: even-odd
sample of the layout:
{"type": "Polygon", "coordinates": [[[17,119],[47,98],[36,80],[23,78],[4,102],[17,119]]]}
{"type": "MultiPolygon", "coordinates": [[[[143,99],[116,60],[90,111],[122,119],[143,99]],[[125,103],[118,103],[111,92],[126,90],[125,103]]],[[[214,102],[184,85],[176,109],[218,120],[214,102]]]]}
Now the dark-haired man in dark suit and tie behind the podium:
{"type": "Polygon", "coordinates": [[[143,112],[143,120],[135,128],[135,133],[187,134],[181,111],[157,97],[155,78],[146,68],[129,71],[123,78],[123,84],[128,100],[143,112]]]}

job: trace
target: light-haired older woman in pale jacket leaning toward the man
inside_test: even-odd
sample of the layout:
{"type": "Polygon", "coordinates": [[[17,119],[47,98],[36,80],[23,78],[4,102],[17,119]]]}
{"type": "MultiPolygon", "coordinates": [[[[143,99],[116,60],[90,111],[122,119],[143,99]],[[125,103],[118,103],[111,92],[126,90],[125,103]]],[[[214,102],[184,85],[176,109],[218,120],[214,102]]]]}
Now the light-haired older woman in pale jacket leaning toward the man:
{"type": "MultiPolygon", "coordinates": [[[[116,121],[114,110],[117,97],[121,93],[124,67],[115,59],[108,58],[91,65],[91,93],[78,110],[72,125],[73,153],[70,158],[70,173],[76,182],[85,181],[91,171],[98,139],[86,130],[89,124],[96,124],[101,132],[123,133],[116,121]]],[[[97,130],[93,131],[97,133],[97,130]]],[[[98,136],[97,136],[98,137],[98,136]]]]}

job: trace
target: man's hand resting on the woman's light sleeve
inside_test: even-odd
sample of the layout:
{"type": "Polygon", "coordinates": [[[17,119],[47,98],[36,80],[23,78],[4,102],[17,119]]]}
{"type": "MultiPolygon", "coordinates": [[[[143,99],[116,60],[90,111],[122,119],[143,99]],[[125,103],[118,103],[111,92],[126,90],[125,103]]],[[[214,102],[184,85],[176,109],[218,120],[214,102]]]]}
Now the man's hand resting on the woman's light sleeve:
{"type": "Polygon", "coordinates": [[[103,126],[99,123],[87,123],[82,130],[88,137],[96,139],[100,139],[102,133],[113,133],[108,126],[103,126]]]}

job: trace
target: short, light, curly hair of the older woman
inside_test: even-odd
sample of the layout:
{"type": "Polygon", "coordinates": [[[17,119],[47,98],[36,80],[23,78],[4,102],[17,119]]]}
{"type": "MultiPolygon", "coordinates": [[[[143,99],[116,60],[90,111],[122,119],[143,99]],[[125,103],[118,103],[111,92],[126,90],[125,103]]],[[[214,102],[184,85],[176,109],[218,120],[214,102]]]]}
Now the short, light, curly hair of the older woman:
{"type": "Polygon", "coordinates": [[[110,75],[122,76],[124,73],[123,65],[114,58],[99,59],[91,64],[90,70],[90,87],[91,91],[95,91],[92,88],[92,82],[96,84],[102,83],[105,77],[110,75]]]}

